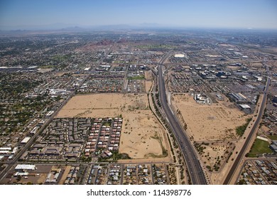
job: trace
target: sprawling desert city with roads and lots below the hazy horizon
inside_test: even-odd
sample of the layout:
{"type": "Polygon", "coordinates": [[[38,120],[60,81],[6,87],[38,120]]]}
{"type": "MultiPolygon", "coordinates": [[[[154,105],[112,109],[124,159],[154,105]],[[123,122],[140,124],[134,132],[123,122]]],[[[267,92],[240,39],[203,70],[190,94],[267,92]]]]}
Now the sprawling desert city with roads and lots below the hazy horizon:
{"type": "Polygon", "coordinates": [[[8,16],[0,185],[277,184],[277,18],[20,28],[8,16]]]}

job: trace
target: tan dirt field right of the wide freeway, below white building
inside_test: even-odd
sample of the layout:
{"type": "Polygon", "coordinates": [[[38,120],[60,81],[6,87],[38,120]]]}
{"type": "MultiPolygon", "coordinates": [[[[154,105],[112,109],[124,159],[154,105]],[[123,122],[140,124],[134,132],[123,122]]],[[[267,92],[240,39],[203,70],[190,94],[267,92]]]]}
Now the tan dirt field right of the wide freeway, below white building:
{"type": "Polygon", "coordinates": [[[180,110],[188,125],[189,136],[195,141],[237,139],[235,128],[248,118],[230,102],[197,104],[189,94],[174,95],[173,99],[175,109],[180,110]]]}

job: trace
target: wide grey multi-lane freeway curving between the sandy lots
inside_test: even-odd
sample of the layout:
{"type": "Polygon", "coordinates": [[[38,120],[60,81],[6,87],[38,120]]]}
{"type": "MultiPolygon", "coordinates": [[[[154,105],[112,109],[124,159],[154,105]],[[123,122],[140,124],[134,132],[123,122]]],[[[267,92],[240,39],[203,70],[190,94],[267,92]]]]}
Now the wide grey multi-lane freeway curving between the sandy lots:
{"type": "Polygon", "coordinates": [[[173,114],[172,110],[168,106],[167,97],[165,94],[165,82],[163,78],[162,64],[169,57],[169,55],[170,53],[164,55],[158,65],[158,90],[161,107],[163,108],[163,112],[165,113],[165,119],[170,124],[170,127],[173,130],[173,134],[175,134],[175,138],[180,146],[180,150],[182,151],[185,163],[188,168],[188,173],[190,175],[191,183],[195,185],[205,185],[205,176],[202,172],[200,162],[197,159],[197,155],[193,150],[193,146],[190,143],[187,134],[185,133],[185,131],[183,131],[183,128],[178,122],[177,117],[175,116],[175,114],[173,114]]]}

